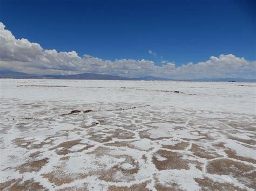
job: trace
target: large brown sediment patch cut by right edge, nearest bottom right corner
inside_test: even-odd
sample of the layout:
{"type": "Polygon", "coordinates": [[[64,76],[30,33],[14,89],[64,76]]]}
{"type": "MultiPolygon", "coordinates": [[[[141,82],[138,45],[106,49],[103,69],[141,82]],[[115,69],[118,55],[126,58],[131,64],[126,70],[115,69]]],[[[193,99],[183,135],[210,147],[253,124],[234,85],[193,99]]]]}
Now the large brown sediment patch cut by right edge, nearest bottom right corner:
{"type": "Polygon", "coordinates": [[[249,188],[256,189],[256,172],[252,165],[231,159],[218,159],[208,162],[207,173],[231,175],[249,188]]]}

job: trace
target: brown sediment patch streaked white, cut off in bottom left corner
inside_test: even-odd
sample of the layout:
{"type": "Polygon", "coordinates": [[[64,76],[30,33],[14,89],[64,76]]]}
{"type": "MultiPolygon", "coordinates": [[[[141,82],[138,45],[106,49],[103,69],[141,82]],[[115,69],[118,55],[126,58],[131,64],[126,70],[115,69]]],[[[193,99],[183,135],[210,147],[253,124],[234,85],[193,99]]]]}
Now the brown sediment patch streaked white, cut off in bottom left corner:
{"type": "Polygon", "coordinates": [[[39,182],[35,182],[33,179],[22,181],[22,179],[12,179],[7,182],[0,183],[0,190],[48,190],[44,188],[39,182]]]}

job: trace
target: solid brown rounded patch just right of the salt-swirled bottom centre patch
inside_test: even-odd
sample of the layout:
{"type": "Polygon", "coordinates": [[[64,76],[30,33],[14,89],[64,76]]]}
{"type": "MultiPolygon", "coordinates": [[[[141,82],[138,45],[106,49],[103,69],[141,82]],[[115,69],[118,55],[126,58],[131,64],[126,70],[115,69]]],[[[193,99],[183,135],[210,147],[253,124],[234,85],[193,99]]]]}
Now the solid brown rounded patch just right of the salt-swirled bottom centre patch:
{"type": "Polygon", "coordinates": [[[189,169],[188,161],[182,158],[183,155],[180,153],[158,150],[156,153],[154,153],[152,160],[154,165],[156,165],[157,169],[160,171],[166,169],[189,169]],[[159,157],[156,157],[157,155],[163,158],[163,160],[159,160],[159,157]]]}

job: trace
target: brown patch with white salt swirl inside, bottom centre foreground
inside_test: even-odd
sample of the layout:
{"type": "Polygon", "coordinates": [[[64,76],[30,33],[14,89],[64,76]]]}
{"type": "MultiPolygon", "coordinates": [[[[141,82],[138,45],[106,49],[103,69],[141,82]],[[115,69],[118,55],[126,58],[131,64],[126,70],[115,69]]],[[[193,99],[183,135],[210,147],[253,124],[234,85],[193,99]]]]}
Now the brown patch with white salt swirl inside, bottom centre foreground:
{"type": "Polygon", "coordinates": [[[111,169],[100,173],[99,179],[111,182],[120,182],[123,179],[125,179],[125,181],[135,180],[133,174],[139,171],[138,162],[135,162],[130,155],[116,155],[115,157],[125,158],[125,160],[113,166],[111,169]],[[127,168],[125,165],[130,166],[127,168]]]}

